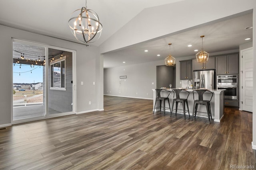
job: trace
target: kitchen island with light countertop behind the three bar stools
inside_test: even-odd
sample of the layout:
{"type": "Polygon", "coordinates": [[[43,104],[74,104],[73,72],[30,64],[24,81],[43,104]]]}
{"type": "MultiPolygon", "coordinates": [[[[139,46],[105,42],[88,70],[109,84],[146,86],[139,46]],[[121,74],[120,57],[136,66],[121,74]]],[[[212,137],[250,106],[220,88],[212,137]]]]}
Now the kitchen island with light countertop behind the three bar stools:
{"type": "MultiPolygon", "coordinates": [[[[154,105],[156,102],[156,90],[153,90],[153,110],[154,110],[154,105]]],[[[168,92],[166,92],[165,90],[171,91],[171,94],[169,96],[169,100],[170,100],[170,106],[172,107],[172,101],[174,98],[174,92],[172,92],[172,89],[170,90],[170,88],[164,89],[161,91],[161,96],[167,96],[168,92]]],[[[186,91],[189,92],[189,96],[188,96],[188,108],[189,108],[189,113],[190,113],[190,118],[192,119],[192,111],[193,111],[193,106],[194,106],[194,99],[193,99],[193,90],[195,89],[188,89],[186,91]]],[[[224,114],[224,90],[209,90],[213,93],[212,96],[212,100],[210,102],[211,105],[211,111],[212,111],[212,119],[214,119],[214,121],[216,122],[220,122],[223,114],[224,114]]],[[[195,99],[198,99],[197,93],[194,92],[195,95],[195,99]]],[[[210,93],[204,94],[204,100],[210,100],[210,93]]],[[[186,98],[185,97],[185,92],[180,92],[180,98],[186,98]]],[[[156,102],[156,107],[159,106],[159,102],[156,102]]],[[[163,106],[163,105],[162,105],[163,106]]],[[[166,102],[166,107],[169,107],[168,102],[166,102]]],[[[174,104],[174,108],[175,109],[175,104],[174,104]]],[[[187,107],[186,107],[187,109],[187,107]]],[[[158,111],[159,109],[156,109],[155,111],[158,111]]],[[[169,109],[167,109],[166,111],[169,111],[169,109]]],[[[175,111],[174,111],[175,113],[175,111]]],[[[178,110],[177,113],[182,113],[182,105],[179,104],[178,106],[178,110]],[[180,109],[180,110],[179,110],[180,109]]],[[[188,112],[186,113],[186,115],[188,115],[188,112]]],[[[175,116],[175,114],[172,114],[172,116],[175,116]]],[[[198,106],[198,113],[196,114],[196,116],[200,116],[200,117],[208,117],[207,112],[206,112],[206,106],[204,105],[199,105],[198,106]]]]}

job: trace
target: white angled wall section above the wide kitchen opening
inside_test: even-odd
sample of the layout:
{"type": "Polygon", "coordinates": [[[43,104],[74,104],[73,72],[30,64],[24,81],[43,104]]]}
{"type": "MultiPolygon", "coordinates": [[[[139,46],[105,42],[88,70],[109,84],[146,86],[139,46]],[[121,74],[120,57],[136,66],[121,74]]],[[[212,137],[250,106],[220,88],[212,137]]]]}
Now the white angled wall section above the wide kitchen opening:
{"type": "Polygon", "coordinates": [[[216,23],[255,6],[255,0],[184,0],[146,8],[102,43],[100,53],[216,23]]]}

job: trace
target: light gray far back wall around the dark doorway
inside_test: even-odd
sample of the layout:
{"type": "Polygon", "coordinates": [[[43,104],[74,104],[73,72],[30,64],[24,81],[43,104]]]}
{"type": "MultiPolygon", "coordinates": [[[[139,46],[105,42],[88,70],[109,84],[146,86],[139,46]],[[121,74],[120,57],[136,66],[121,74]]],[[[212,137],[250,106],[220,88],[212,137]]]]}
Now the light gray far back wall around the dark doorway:
{"type": "MultiPolygon", "coordinates": [[[[191,58],[191,56],[176,58],[176,88],[182,87],[179,61],[191,58]]],[[[150,63],[105,68],[104,94],[153,99],[152,89],[156,88],[156,66],[163,64],[164,59],[150,63]],[[127,76],[127,79],[120,79],[119,76],[127,76]]]]}

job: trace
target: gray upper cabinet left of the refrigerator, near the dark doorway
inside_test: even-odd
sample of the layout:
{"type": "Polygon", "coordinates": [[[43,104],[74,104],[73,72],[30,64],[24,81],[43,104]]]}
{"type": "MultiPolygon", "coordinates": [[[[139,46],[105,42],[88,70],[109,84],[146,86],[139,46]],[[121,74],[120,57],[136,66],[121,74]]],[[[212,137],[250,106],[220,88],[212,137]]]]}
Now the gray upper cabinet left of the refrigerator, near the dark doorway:
{"type": "Polygon", "coordinates": [[[180,80],[192,79],[192,60],[180,61],[180,80]]]}

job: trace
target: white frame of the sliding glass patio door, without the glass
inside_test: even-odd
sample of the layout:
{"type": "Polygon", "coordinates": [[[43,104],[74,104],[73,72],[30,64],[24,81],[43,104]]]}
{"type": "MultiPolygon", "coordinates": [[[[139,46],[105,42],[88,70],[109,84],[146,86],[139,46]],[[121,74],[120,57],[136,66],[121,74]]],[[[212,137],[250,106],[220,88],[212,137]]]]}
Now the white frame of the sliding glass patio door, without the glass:
{"type": "MultiPolygon", "coordinates": [[[[36,120],[43,120],[43,119],[48,119],[48,118],[52,118],[52,117],[60,117],[60,116],[64,116],[64,115],[72,115],[72,114],[76,114],[76,51],[75,50],[71,50],[71,49],[65,49],[65,48],[61,48],[61,47],[56,47],[56,46],[51,46],[51,45],[46,45],[46,44],[42,44],[42,43],[36,43],[36,42],[32,42],[32,41],[26,41],[26,40],[20,40],[20,39],[12,39],[12,42],[18,42],[18,43],[24,43],[27,45],[33,45],[33,46],[38,46],[38,47],[44,47],[45,48],[45,60],[46,60],[46,66],[45,66],[45,72],[44,74],[46,75],[43,78],[43,82],[45,81],[45,114],[42,116],[38,116],[38,117],[31,117],[31,118],[27,118],[27,119],[19,119],[19,120],[13,120],[13,89],[11,91],[11,123],[12,125],[14,124],[18,124],[18,123],[25,123],[25,122],[30,122],[30,121],[36,121],[36,120]],[[66,113],[56,113],[54,115],[49,114],[49,109],[48,109],[48,89],[49,89],[49,78],[48,78],[48,70],[50,69],[50,66],[48,66],[49,62],[48,62],[48,49],[58,49],[58,50],[62,50],[62,51],[68,51],[72,53],[72,111],[70,112],[66,112],[66,113]]],[[[13,43],[12,43],[12,49],[13,49],[13,43]]],[[[13,50],[12,50],[13,53],[13,50]]],[[[13,56],[13,54],[12,54],[13,56]]],[[[11,62],[10,64],[13,64],[13,57],[11,57],[11,62]]],[[[12,70],[13,71],[13,70],[12,70]]],[[[12,84],[13,86],[13,75],[12,75],[12,84]]]]}

